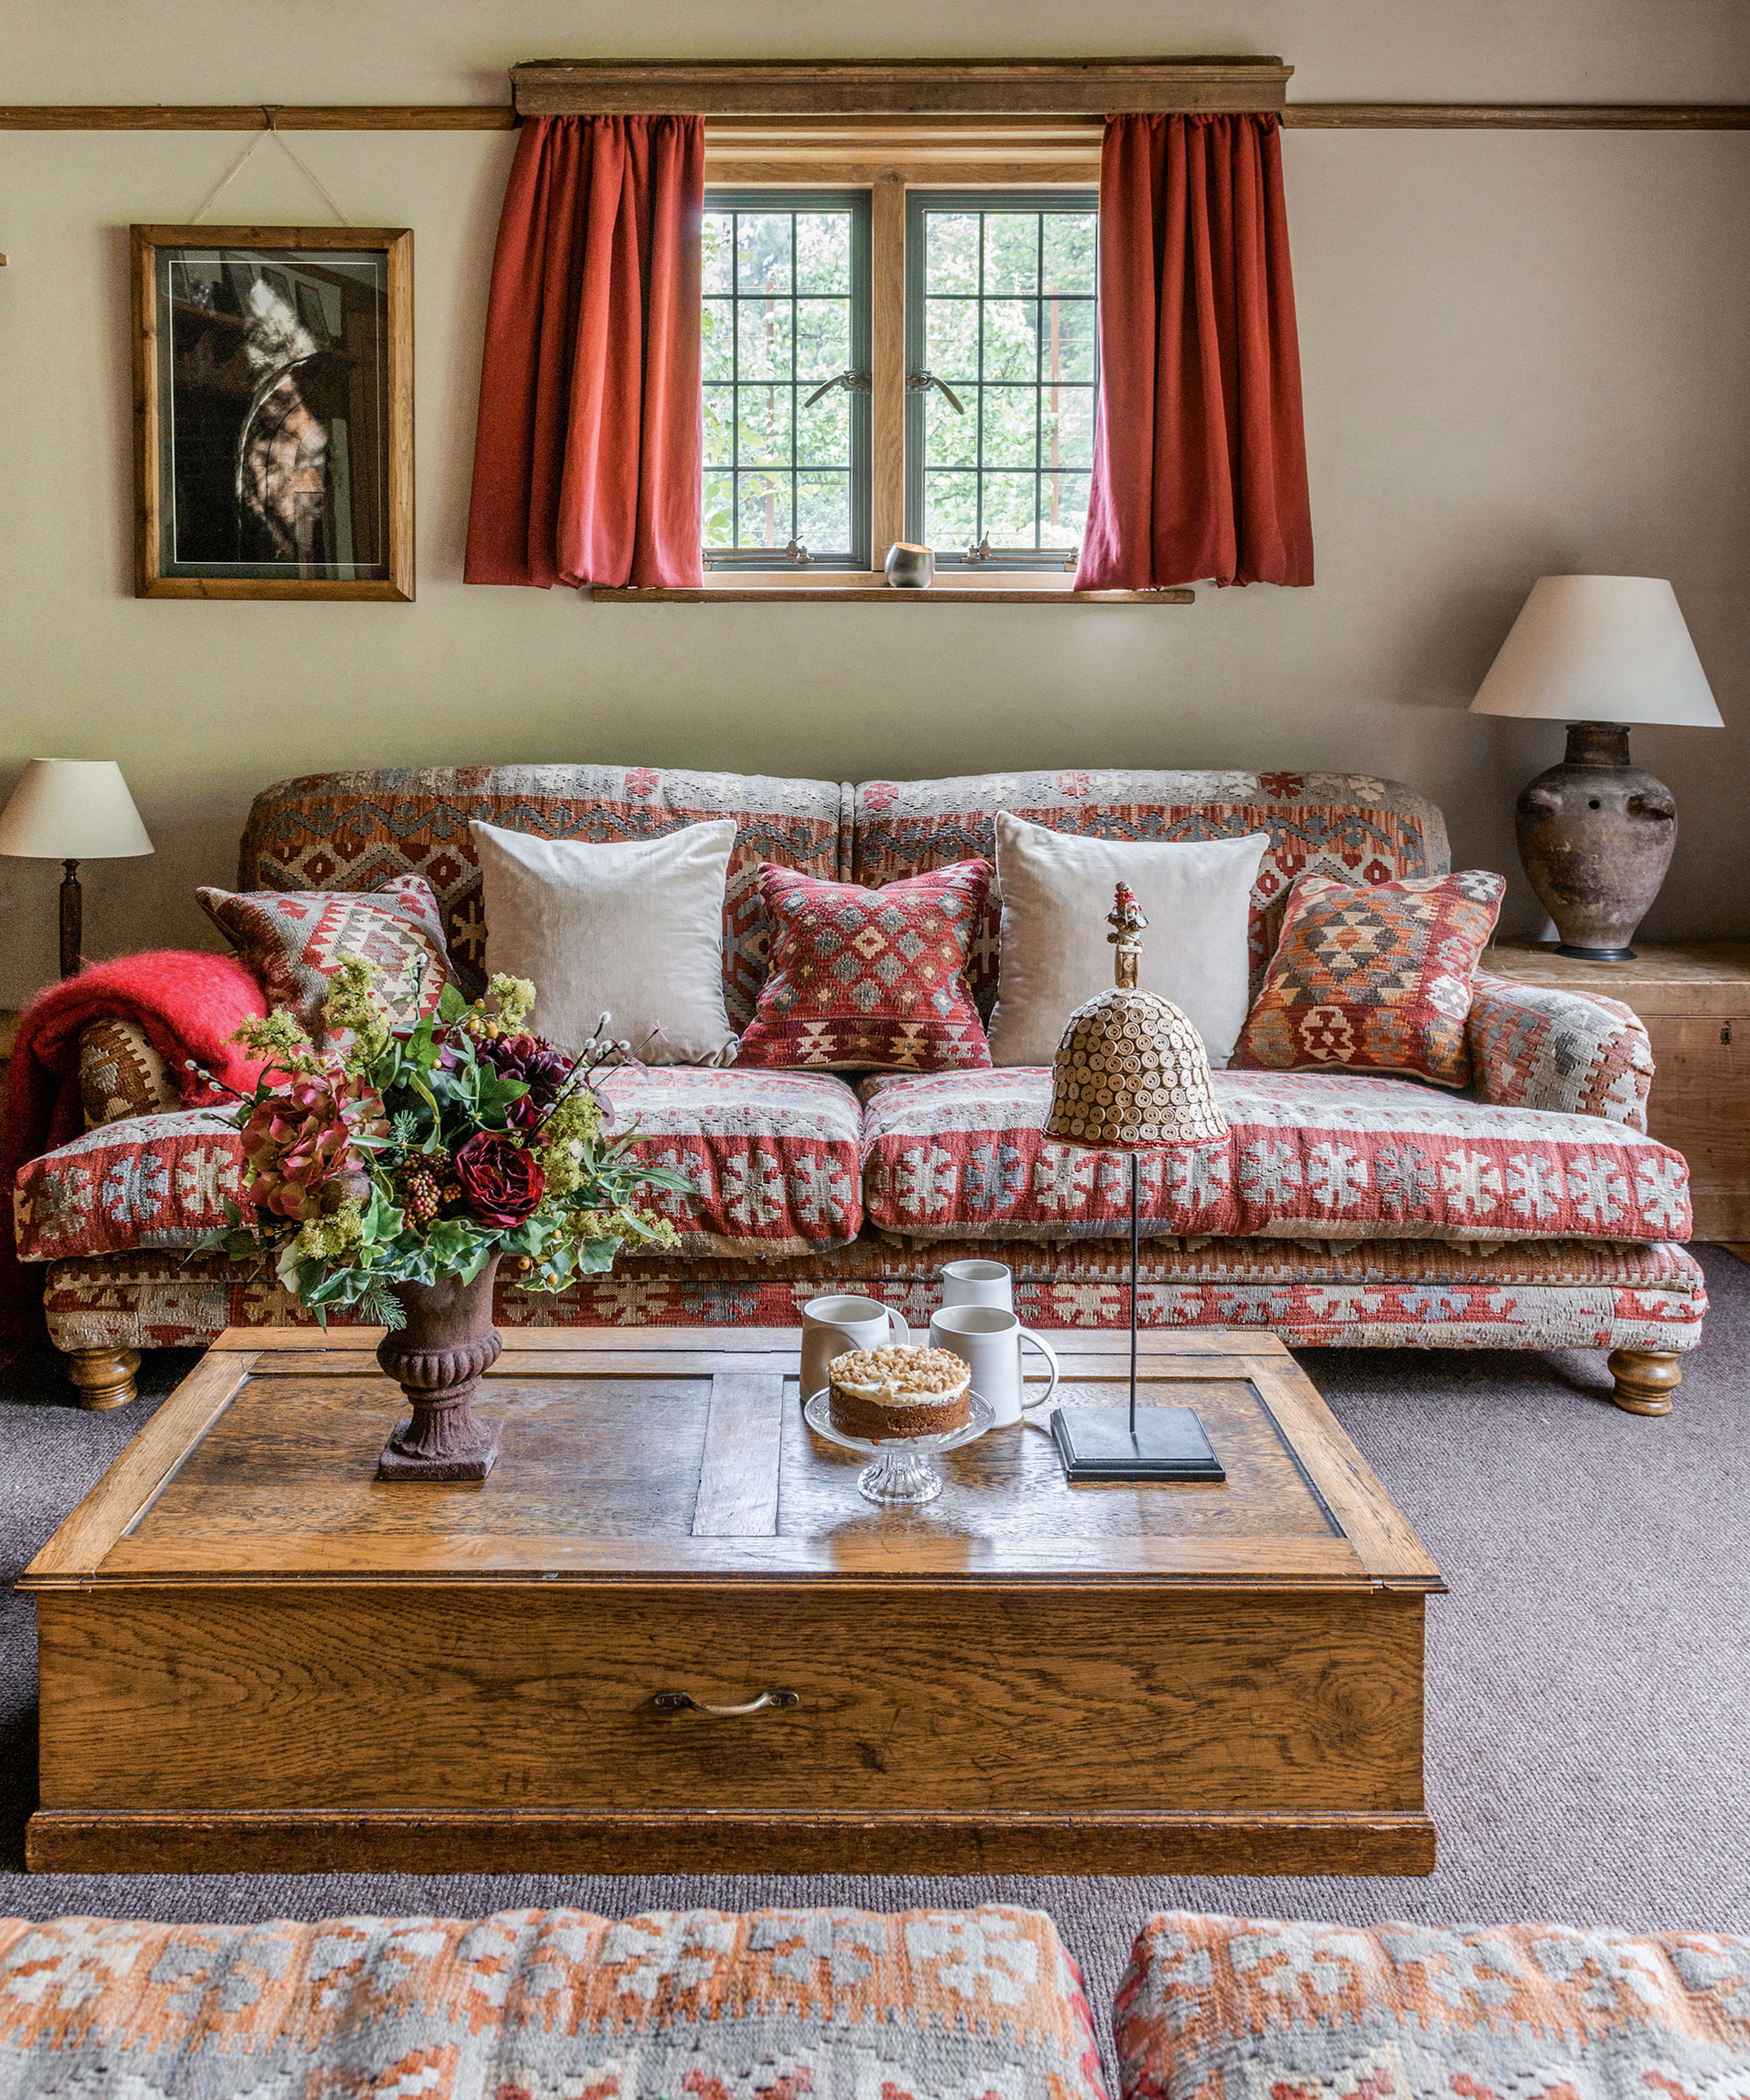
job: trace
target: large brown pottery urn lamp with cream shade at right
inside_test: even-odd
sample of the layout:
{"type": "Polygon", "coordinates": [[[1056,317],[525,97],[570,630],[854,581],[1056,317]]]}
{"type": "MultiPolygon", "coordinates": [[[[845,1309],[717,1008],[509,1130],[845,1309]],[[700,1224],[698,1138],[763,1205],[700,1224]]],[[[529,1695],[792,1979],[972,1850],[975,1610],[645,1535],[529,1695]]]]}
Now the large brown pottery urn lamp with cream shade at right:
{"type": "Polygon", "coordinates": [[[1676,846],[1676,802],[1628,762],[1628,724],[1723,727],[1676,592],[1660,575],[1540,575],[1471,710],[1567,722],[1565,758],[1515,804],[1519,859],[1559,953],[1632,962],[1676,846]]]}

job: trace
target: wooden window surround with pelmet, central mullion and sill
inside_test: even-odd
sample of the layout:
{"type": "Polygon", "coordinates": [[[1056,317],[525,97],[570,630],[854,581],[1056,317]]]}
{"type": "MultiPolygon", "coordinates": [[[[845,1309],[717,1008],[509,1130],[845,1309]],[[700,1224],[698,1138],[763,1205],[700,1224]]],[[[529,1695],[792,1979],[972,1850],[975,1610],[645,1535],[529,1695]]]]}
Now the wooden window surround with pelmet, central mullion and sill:
{"type": "Polygon", "coordinates": [[[714,569],[702,590],[597,590],[605,603],[1189,605],[1189,590],[1076,592],[1050,569],[956,569],[889,590],[905,536],[905,197],[914,189],[1088,189],[1116,109],[1275,109],[1282,59],[1107,61],[546,61],[511,71],[519,116],[695,111],[712,189],[870,191],[872,569],[714,569]]]}

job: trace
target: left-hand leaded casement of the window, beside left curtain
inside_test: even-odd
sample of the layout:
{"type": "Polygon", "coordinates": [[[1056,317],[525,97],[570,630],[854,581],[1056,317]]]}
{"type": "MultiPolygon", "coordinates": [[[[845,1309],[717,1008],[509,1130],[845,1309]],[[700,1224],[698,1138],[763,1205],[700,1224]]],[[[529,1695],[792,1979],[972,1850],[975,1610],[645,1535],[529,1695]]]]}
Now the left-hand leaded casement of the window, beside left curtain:
{"type": "Polygon", "coordinates": [[[704,550],[870,567],[870,193],[708,191],[704,550]]]}

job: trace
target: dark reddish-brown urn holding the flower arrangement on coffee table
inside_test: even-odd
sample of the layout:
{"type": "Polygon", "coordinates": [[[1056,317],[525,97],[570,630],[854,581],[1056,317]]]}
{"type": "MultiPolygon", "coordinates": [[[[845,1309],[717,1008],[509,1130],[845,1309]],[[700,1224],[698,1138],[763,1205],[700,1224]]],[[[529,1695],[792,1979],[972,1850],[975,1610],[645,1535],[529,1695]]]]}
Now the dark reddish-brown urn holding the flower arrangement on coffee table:
{"type": "Polygon", "coordinates": [[[408,1325],[376,1344],[376,1361],[414,1403],[376,1462],[378,1480],[483,1480],[498,1460],[498,1424],[477,1422],[468,1401],[498,1363],[504,1338],[492,1325],[498,1256],[473,1283],[391,1283],[408,1325]]]}

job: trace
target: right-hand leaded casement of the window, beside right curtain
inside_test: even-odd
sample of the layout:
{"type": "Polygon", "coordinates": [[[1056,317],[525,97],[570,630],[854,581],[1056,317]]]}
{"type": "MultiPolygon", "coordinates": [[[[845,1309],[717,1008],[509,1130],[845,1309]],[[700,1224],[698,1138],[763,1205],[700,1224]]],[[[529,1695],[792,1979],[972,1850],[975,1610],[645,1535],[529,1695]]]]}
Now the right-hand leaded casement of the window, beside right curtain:
{"type": "Polygon", "coordinates": [[[1059,567],[1088,514],[1099,197],[914,193],[905,256],[908,538],[947,565],[987,540],[1008,565],[1059,567]]]}

